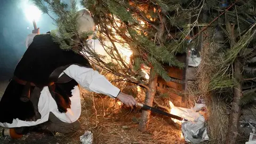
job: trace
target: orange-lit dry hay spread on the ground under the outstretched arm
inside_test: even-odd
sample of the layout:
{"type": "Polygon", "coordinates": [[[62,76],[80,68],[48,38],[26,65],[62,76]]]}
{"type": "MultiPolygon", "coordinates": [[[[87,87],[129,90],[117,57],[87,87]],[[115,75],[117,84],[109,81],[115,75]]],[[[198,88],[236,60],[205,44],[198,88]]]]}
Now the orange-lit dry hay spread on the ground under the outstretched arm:
{"type": "Polygon", "coordinates": [[[91,130],[94,143],[185,143],[181,131],[167,117],[153,114],[147,132],[138,130],[140,109],[119,106],[108,97],[86,93],[81,123],[91,130]],[[94,99],[94,102],[93,102],[94,99]],[[95,109],[94,107],[95,106],[95,109]],[[97,116],[96,116],[97,114],[97,116]]]}

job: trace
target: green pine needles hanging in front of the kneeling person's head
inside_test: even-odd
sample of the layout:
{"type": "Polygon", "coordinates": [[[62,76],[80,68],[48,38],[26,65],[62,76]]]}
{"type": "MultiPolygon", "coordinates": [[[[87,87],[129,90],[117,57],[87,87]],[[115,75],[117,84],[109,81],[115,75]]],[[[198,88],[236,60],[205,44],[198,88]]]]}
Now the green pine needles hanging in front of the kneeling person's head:
{"type": "Polygon", "coordinates": [[[76,7],[76,1],[70,0],[70,5],[62,3],[57,0],[32,0],[33,3],[43,13],[48,14],[57,25],[57,30],[52,31],[51,35],[54,37],[54,42],[60,44],[63,50],[73,50],[80,52],[83,47],[79,39],[90,36],[90,33],[78,34],[77,32],[77,16],[78,9],[76,7]],[[54,13],[56,19],[51,16],[50,13],[54,13]]]}

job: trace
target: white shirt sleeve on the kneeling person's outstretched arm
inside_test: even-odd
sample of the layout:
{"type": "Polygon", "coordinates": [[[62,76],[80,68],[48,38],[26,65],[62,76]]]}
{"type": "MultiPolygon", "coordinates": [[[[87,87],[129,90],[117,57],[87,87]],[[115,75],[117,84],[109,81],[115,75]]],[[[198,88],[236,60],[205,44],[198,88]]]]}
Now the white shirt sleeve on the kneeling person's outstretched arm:
{"type": "Polygon", "coordinates": [[[92,68],[71,65],[63,73],[75,79],[79,85],[89,91],[106,94],[111,98],[116,98],[120,92],[120,89],[112,85],[105,76],[92,68]]]}

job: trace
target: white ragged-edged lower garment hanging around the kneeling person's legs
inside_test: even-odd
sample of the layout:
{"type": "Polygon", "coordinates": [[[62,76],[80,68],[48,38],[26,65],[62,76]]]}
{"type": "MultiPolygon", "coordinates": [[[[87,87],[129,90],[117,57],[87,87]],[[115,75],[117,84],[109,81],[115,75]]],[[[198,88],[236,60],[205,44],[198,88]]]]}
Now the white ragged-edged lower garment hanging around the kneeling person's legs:
{"type": "Polygon", "coordinates": [[[0,123],[2,127],[22,127],[22,126],[34,126],[44,122],[47,122],[49,119],[49,113],[52,112],[56,117],[58,117],[62,122],[73,123],[77,121],[77,119],[81,115],[81,99],[80,99],[80,91],[79,87],[75,86],[71,91],[72,97],[70,97],[71,106],[68,108],[67,113],[60,113],[57,107],[57,103],[52,98],[52,95],[47,86],[43,88],[41,91],[41,95],[38,101],[38,111],[41,114],[41,119],[37,119],[37,121],[29,122],[29,121],[21,121],[16,118],[13,119],[12,123],[0,123]]]}

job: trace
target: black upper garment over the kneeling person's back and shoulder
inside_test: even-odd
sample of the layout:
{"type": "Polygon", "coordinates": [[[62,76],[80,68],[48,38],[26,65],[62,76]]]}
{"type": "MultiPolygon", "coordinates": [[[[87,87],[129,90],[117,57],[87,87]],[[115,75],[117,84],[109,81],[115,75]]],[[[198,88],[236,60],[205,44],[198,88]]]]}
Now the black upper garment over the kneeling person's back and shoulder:
{"type": "Polygon", "coordinates": [[[55,69],[75,63],[91,67],[83,55],[61,50],[50,34],[37,35],[15,68],[14,75],[42,87],[50,83],[49,77],[55,69]]]}

